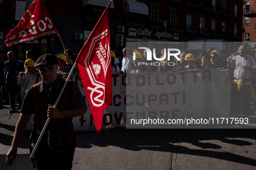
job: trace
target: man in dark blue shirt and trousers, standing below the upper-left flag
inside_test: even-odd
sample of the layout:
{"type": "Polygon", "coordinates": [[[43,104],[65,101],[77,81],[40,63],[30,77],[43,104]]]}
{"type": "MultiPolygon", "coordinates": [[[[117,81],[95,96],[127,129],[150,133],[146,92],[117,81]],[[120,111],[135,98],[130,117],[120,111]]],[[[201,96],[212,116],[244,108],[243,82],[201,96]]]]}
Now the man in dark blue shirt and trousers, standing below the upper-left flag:
{"type": "Polygon", "coordinates": [[[19,106],[21,106],[20,89],[18,89],[18,76],[19,72],[24,72],[24,65],[21,61],[15,58],[13,51],[7,53],[8,61],[4,63],[4,75],[6,78],[6,90],[9,95],[9,101],[11,109],[9,113],[15,112],[15,98],[17,99],[19,106]]]}

